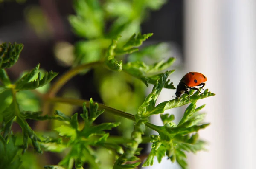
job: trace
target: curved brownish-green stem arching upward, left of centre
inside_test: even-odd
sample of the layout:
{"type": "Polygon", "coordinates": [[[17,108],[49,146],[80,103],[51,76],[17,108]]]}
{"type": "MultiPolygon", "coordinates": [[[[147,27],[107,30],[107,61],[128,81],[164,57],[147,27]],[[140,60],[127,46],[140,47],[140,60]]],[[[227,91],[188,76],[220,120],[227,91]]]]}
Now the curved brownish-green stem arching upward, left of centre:
{"type": "Polygon", "coordinates": [[[98,61],[98,62],[91,62],[87,63],[84,65],[79,65],[76,68],[72,68],[68,70],[66,73],[64,73],[62,76],[58,78],[58,80],[52,85],[48,92],[48,96],[55,96],[55,94],[60,90],[60,88],[67,82],[69,81],[72,77],[76,76],[78,73],[81,72],[81,70],[87,69],[87,68],[92,68],[98,65],[101,65],[103,62],[98,61]]]}

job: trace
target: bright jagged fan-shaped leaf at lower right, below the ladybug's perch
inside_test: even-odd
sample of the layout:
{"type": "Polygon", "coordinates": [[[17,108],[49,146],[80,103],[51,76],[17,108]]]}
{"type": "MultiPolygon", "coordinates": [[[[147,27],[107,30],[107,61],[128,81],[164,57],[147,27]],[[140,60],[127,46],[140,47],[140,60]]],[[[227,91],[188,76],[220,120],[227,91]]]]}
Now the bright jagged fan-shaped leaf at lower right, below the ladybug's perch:
{"type": "Polygon", "coordinates": [[[179,124],[172,122],[173,115],[161,115],[164,126],[157,127],[159,135],[151,135],[151,152],[143,166],[153,165],[154,156],[160,163],[162,158],[167,155],[168,158],[180,164],[183,169],[187,169],[186,152],[196,153],[204,150],[204,141],[198,140],[198,130],[204,129],[209,124],[201,124],[204,114],[198,113],[203,106],[196,108],[196,101],[193,101],[186,108],[185,113],[179,124]],[[194,134],[195,133],[195,134],[194,134]]]}

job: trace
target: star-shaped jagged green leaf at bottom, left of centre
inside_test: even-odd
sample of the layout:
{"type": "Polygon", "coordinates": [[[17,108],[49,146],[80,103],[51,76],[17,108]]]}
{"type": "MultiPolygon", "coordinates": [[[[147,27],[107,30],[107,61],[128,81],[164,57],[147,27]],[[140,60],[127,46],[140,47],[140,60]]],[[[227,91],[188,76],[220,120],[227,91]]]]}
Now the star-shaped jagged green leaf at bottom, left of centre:
{"type": "MultiPolygon", "coordinates": [[[[67,143],[63,143],[59,140],[55,140],[53,141],[56,143],[55,146],[52,144],[44,144],[44,147],[45,149],[49,149],[49,147],[51,147],[50,151],[56,151],[56,149],[59,149],[59,146],[62,144],[63,148],[71,148],[70,152],[59,163],[60,166],[70,169],[73,166],[73,161],[75,161],[76,168],[81,168],[85,162],[90,163],[93,168],[99,168],[99,163],[96,162],[97,158],[91,146],[103,146],[107,149],[115,149],[115,151],[119,153],[123,152],[120,146],[111,143],[105,143],[105,141],[108,139],[109,133],[106,133],[104,130],[111,130],[113,127],[117,127],[119,125],[118,122],[93,125],[93,121],[95,121],[96,118],[98,118],[99,115],[104,112],[104,110],[98,110],[98,107],[99,105],[97,103],[93,103],[93,100],[90,99],[89,113],[86,108],[86,103],[83,104],[83,113],[80,114],[81,118],[84,120],[84,127],[82,129],[79,129],[79,122],[77,119],[78,113],[75,113],[70,118],[63,113],[56,111],[56,115],[58,115],[59,119],[61,121],[66,121],[67,124],[61,125],[55,130],[59,133],[60,136],[69,138],[69,141],[67,143]],[[95,137],[97,139],[95,139],[95,137]]],[[[49,143],[48,140],[49,138],[43,142],[49,143]]]]}

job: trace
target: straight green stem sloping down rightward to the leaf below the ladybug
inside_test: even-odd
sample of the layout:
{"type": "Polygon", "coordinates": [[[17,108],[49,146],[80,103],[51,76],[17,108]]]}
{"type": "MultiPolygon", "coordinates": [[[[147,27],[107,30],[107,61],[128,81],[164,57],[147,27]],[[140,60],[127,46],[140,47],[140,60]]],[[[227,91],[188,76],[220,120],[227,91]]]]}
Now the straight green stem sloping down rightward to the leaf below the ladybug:
{"type": "MultiPolygon", "coordinates": [[[[63,97],[49,97],[47,99],[47,101],[51,102],[51,103],[66,103],[66,104],[72,104],[72,105],[76,105],[76,106],[82,106],[83,103],[85,102],[86,103],[86,106],[88,107],[89,106],[89,100],[82,100],[82,99],[69,99],[69,98],[63,98],[63,97]]],[[[124,117],[124,118],[128,118],[132,121],[136,121],[135,120],[135,117],[134,115],[132,114],[129,114],[129,113],[125,113],[121,110],[117,110],[117,109],[114,109],[114,108],[111,108],[111,107],[108,107],[104,104],[99,104],[99,109],[100,110],[105,110],[105,112],[108,112],[108,113],[112,113],[114,115],[118,115],[118,116],[121,116],[121,117],[124,117]]],[[[149,122],[146,122],[145,125],[149,128],[151,128],[152,130],[159,130],[159,126],[156,126],[154,124],[151,124],[149,122]]]]}

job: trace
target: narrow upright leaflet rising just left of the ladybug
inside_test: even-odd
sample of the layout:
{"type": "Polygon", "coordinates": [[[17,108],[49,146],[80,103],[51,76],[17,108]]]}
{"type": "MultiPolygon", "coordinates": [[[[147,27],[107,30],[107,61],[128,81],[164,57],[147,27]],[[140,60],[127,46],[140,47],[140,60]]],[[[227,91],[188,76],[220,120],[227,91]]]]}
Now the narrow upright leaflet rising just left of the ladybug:
{"type": "Polygon", "coordinates": [[[160,95],[161,90],[169,76],[171,71],[163,73],[161,78],[155,83],[152,92],[146,97],[144,103],[138,108],[138,114],[142,117],[148,117],[148,113],[154,109],[158,96],[160,95]]]}

